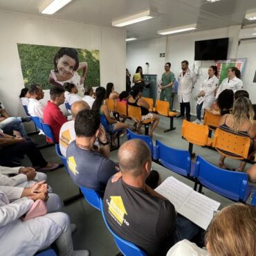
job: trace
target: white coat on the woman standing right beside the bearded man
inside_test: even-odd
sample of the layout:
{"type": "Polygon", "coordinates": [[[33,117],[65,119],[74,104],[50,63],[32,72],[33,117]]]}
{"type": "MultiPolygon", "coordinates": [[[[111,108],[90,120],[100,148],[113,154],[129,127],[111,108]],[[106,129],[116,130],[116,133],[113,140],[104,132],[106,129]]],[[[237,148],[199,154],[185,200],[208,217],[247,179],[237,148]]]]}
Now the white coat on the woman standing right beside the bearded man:
{"type": "Polygon", "coordinates": [[[212,101],[214,100],[214,91],[219,84],[219,79],[213,75],[209,78],[209,76],[205,77],[203,83],[200,86],[199,91],[204,91],[205,96],[203,100],[203,109],[206,107],[210,107],[212,101]]]}

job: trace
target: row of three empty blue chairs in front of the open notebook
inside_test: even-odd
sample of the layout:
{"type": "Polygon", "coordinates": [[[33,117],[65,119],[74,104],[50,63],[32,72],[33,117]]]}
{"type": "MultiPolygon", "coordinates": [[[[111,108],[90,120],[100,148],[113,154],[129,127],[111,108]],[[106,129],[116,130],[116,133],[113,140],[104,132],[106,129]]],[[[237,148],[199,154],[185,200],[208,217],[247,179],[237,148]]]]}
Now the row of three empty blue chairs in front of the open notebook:
{"type": "MultiPolygon", "coordinates": [[[[194,190],[199,184],[199,192],[202,188],[208,188],[233,201],[248,199],[252,186],[248,185],[248,176],[243,172],[223,170],[197,156],[196,163],[192,163],[188,150],[174,149],[156,140],[156,147],[149,136],[134,134],[127,129],[127,138],[140,138],[145,141],[152,152],[154,161],[182,176],[195,181],[194,190]]],[[[256,201],[256,199],[255,199],[256,201]]]]}

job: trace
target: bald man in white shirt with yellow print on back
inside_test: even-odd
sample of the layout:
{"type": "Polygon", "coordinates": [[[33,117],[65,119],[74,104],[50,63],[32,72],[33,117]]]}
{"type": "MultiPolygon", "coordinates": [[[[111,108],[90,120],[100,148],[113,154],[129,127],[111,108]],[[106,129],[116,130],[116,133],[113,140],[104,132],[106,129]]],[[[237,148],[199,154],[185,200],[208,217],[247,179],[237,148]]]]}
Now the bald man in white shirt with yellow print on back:
{"type": "Polygon", "coordinates": [[[66,149],[73,140],[75,140],[75,118],[77,113],[84,109],[90,109],[89,104],[84,100],[78,100],[71,106],[72,120],[65,122],[60,129],[60,152],[66,157],[66,149]]]}

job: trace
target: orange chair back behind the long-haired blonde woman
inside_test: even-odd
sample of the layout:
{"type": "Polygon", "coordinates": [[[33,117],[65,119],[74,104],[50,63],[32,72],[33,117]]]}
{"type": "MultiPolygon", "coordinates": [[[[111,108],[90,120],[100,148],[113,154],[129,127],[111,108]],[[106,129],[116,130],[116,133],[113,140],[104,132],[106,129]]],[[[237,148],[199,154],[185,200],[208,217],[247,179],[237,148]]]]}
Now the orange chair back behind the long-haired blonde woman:
{"type": "Polygon", "coordinates": [[[250,149],[250,138],[217,128],[214,133],[212,147],[219,154],[232,159],[247,159],[250,149]]]}

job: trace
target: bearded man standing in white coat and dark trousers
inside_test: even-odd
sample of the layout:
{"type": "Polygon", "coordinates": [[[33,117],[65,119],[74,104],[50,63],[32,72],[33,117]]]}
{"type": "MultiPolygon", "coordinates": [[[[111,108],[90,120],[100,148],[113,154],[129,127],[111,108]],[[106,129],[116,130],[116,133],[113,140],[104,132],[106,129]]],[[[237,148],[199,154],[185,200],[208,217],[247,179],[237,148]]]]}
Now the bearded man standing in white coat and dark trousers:
{"type": "Polygon", "coordinates": [[[188,60],[181,62],[182,71],[178,75],[178,98],[181,106],[181,113],[177,118],[186,118],[190,121],[190,100],[194,84],[196,83],[196,73],[188,68],[188,60]]]}

